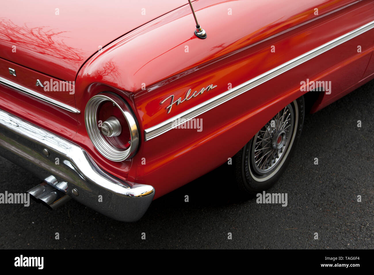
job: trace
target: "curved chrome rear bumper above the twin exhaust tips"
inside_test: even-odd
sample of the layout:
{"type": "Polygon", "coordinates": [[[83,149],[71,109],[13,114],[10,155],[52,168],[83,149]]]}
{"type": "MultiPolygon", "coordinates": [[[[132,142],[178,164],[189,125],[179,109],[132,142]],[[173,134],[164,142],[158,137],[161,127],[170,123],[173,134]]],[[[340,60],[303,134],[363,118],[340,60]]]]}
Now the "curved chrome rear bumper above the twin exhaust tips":
{"type": "Polygon", "coordinates": [[[140,219],[154,197],[152,186],[108,174],[81,147],[1,109],[0,155],[41,180],[53,175],[67,195],[116,220],[140,219]]]}

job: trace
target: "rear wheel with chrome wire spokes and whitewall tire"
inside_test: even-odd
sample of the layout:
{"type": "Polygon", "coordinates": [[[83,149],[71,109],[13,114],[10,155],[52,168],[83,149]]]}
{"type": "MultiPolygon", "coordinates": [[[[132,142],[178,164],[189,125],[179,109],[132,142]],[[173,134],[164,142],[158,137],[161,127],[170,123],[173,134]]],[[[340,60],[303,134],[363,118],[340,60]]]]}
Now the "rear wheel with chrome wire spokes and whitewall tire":
{"type": "Polygon", "coordinates": [[[283,107],[233,156],[228,169],[239,196],[252,198],[282,176],[300,138],[304,106],[304,97],[299,97],[283,107]]]}

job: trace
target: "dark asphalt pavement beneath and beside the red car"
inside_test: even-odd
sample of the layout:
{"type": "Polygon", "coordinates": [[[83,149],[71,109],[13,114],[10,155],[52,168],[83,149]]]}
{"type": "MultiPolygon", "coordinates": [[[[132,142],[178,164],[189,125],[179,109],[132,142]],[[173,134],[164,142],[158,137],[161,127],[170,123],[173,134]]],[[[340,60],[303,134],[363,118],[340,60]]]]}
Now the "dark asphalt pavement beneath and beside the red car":
{"type": "MultiPolygon", "coordinates": [[[[0,204],[0,248],[373,249],[373,120],[374,81],[308,114],[285,174],[267,191],[287,193],[286,207],[231,197],[230,179],[218,168],[155,200],[135,223],[74,200],[54,211],[34,201],[0,204]]],[[[39,183],[0,157],[0,193],[24,193],[39,183]]]]}

